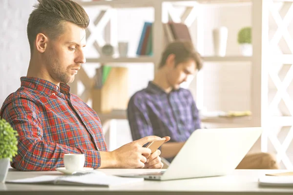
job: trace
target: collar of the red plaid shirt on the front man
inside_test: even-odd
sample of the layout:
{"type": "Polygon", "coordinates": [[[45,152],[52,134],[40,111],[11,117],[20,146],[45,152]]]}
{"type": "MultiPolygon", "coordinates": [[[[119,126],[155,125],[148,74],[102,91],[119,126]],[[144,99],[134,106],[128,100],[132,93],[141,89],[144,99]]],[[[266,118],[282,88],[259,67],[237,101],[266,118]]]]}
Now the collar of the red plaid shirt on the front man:
{"type": "Polygon", "coordinates": [[[58,94],[69,94],[70,87],[65,83],[60,83],[60,88],[47,80],[42,78],[33,78],[33,77],[21,77],[21,87],[27,87],[33,90],[38,90],[43,92],[46,95],[51,95],[52,93],[58,94]]]}

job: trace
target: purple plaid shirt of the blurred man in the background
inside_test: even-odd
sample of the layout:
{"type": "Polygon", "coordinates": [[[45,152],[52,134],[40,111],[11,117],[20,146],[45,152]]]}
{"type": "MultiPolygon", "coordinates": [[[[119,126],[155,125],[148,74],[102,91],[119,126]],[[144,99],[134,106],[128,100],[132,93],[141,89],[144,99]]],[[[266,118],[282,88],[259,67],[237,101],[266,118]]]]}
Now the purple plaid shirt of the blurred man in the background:
{"type": "Polygon", "coordinates": [[[182,142],[200,129],[198,109],[189,90],[180,88],[167,94],[152,82],[130,98],[127,117],[133,140],[155,135],[182,142]]]}

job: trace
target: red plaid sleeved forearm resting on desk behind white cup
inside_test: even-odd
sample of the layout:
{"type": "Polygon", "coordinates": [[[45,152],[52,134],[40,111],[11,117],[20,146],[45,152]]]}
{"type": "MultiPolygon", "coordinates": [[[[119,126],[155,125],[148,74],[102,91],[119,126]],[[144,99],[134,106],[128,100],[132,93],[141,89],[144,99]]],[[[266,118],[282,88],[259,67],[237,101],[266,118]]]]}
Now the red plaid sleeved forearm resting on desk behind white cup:
{"type": "Polygon", "coordinates": [[[99,168],[101,156],[99,151],[82,150],[62,144],[26,138],[20,141],[18,155],[14,157],[13,167],[21,171],[51,171],[64,166],[63,155],[83,153],[84,166],[99,168]]]}

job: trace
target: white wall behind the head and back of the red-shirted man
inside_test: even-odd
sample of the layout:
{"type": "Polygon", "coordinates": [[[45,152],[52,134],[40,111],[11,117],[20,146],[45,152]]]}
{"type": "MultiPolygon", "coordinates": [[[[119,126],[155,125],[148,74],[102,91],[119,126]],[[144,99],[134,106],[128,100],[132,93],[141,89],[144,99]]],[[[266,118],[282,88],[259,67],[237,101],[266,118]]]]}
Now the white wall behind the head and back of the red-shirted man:
{"type": "Polygon", "coordinates": [[[0,105],[26,75],[29,44],[27,19],[35,0],[0,0],[0,105]]]}

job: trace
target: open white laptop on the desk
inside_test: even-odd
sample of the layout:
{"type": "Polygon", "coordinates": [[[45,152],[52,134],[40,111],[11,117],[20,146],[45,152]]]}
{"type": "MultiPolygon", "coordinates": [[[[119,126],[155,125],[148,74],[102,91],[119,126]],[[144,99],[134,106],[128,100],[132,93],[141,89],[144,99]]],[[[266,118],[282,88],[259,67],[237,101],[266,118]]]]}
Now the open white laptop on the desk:
{"type": "Polygon", "coordinates": [[[228,175],[261,133],[261,127],[198,129],[191,134],[166,170],[117,176],[163,181],[228,175]]]}

